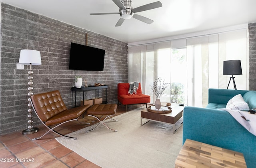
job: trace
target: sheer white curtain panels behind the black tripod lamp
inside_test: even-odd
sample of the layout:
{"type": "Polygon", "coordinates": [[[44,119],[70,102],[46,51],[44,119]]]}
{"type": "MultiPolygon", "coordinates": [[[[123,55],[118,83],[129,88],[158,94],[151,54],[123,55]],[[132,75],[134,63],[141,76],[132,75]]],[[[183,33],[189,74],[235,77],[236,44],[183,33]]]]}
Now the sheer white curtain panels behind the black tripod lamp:
{"type": "MultiPolygon", "coordinates": [[[[243,75],[234,75],[237,89],[246,90],[247,30],[187,39],[188,104],[205,107],[208,89],[226,89],[231,75],[223,75],[223,61],[240,59],[243,75]]],[[[232,81],[228,89],[233,88],[232,81]]]]}

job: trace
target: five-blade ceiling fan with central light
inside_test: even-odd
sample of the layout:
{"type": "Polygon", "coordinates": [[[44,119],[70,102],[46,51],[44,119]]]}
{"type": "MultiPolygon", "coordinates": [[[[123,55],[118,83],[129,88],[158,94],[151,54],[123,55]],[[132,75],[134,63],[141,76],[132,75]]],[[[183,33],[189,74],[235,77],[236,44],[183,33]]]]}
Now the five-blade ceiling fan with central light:
{"type": "Polygon", "coordinates": [[[119,13],[114,12],[114,13],[94,13],[90,15],[107,15],[107,14],[120,14],[121,18],[118,20],[116,23],[116,26],[121,26],[124,20],[130,19],[130,18],[135,18],[138,19],[142,22],[145,22],[147,24],[151,24],[154,22],[151,19],[148,19],[144,16],[140,16],[138,14],[135,14],[136,12],[142,12],[145,10],[150,10],[150,9],[155,9],[162,7],[162,3],[160,1],[153,2],[150,4],[146,4],[137,8],[132,8],[132,0],[113,0],[113,2],[119,7],[119,13]]]}

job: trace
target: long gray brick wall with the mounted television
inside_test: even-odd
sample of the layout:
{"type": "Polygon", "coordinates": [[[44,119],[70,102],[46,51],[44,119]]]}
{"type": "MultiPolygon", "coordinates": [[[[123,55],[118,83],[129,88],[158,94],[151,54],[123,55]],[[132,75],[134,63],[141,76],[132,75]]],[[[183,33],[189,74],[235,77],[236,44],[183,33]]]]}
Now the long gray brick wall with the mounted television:
{"type": "MultiPolygon", "coordinates": [[[[27,128],[29,66],[25,65],[24,70],[16,69],[21,49],[41,52],[42,65],[32,65],[33,93],[59,90],[68,108],[71,107],[70,88],[74,86],[76,75],[86,77],[88,85],[107,84],[109,103],[117,103],[117,83],[128,81],[127,43],[4,3],[1,4],[0,31],[0,134],[27,128]],[[106,50],[104,71],[68,69],[70,43],[85,45],[86,34],[89,46],[106,50]]],[[[85,95],[94,98],[96,91],[85,92],[85,95]]],[[[99,90],[99,95],[104,99],[105,90],[99,90]]],[[[80,99],[82,92],[78,93],[77,100],[80,99]]],[[[39,124],[34,114],[34,125],[39,124]]]]}

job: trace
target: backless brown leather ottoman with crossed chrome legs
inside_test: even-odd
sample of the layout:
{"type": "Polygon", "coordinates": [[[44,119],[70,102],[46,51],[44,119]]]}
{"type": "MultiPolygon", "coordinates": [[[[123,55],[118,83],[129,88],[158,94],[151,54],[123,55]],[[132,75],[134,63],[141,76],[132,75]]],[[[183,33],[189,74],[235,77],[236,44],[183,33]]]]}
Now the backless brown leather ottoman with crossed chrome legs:
{"type": "MultiPolygon", "coordinates": [[[[92,128],[91,130],[94,130],[95,128],[97,128],[100,124],[105,125],[108,129],[113,130],[115,132],[117,132],[117,130],[111,129],[109,128],[105,123],[103,123],[103,121],[107,118],[113,120],[113,121],[117,121],[111,118],[111,116],[116,115],[116,108],[117,105],[116,104],[98,104],[98,105],[93,105],[92,107],[90,107],[90,109],[87,110],[86,114],[88,116],[94,117],[96,118],[98,121],[100,121],[100,123],[92,128]],[[106,117],[101,121],[100,118],[96,117],[95,115],[101,115],[101,117],[103,117],[104,115],[106,115],[106,117]]],[[[88,130],[86,132],[89,132],[91,130],[88,130]]]]}

